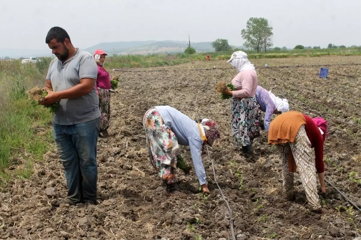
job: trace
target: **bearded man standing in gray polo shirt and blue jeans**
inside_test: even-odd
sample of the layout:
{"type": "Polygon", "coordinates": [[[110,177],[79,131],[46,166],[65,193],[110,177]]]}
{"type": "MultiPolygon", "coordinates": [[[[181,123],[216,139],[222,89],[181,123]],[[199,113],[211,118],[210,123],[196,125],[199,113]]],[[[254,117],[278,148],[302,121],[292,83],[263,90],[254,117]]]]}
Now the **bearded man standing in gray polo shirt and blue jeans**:
{"type": "Polygon", "coordinates": [[[45,80],[44,105],[59,102],[53,132],[68,185],[66,203],[96,204],[96,149],[99,99],[95,90],[97,66],[90,53],[74,48],[68,33],[49,30],[45,43],[56,55],[45,80]]]}

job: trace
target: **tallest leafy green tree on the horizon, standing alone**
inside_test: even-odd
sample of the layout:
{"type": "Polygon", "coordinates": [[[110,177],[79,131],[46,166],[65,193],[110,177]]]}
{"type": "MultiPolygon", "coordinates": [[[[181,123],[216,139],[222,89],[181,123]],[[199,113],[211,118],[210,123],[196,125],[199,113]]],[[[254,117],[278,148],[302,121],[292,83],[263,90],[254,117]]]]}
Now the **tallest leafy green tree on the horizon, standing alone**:
{"type": "Polygon", "coordinates": [[[264,48],[273,46],[272,33],[273,27],[269,25],[266,18],[249,18],[246,28],[242,29],[241,36],[245,40],[244,46],[253,48],[258,52],[264,48]]]}

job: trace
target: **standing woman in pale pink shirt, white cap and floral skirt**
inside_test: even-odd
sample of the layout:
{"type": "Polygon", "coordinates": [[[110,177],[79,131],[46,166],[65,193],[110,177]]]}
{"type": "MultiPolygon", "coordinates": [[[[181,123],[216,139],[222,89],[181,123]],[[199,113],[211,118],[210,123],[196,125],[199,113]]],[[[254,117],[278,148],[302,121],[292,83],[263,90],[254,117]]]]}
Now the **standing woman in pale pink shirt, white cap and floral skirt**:
{"type": "Polygon", "coordinates": [[[228,61],[238,74],[232,80],[235,91],[226,89],[223,94],[232,96],[232,135],[239,146],[242,146],[244,156],[251,157],[253,153],[253,138],[260,135],[261,110],[256,101],[258,85],[257,73],[253,64],[247,59],[247,54],[238,51],[232,54],[228,61]]]}

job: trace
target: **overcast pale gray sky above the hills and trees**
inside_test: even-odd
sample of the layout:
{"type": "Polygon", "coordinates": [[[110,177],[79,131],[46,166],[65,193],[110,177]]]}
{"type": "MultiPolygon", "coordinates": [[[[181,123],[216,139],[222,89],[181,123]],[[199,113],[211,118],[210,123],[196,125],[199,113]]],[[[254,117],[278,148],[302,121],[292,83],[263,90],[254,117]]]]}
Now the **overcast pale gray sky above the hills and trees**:
{"type": "Polygon", "coordinates": [[[0,1],[0,48],[47,49],[49,28],[74,46],[133,40],[214,41],[242,45],[250,17],[267,18],[274,46],[361,45],[359,0],[10,0],[0,1]]]}

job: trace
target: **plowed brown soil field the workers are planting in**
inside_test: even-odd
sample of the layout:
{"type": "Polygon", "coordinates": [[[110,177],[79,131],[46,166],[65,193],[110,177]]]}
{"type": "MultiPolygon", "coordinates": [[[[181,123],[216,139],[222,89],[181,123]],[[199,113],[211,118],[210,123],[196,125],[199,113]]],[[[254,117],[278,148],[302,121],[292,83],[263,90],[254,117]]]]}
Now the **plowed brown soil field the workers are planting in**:
{"type": "MultiPolygon", "coordinates": [[[[211,56],[212,57],[212,56],[211,56]]],[[[264,68],[283,65],[361,63],[361,57],[255,59],[259,85],[290,100],[290,109],[330,117],[325,144],[326,178],[361,206],[361,65],[264,68]],[[292,102],[292,103],[291,103],[292,102]]],[[[321,197],[327,214],[309,212],[299,175],[295,201],[282,197],[281,163],[266,133],[255,139],[256,159],[246,160],[231,135],[229,100],[214,86],[236,70],[225,61],[110,71],[119,75],[112,95],[108,138],[99,139],[99,204],[62,204],[66,182],[56,151],[36,163],[30,179],[14,179],[0,194],[0,239],[231,239],[229,212],[204,156],[211,194],[204,196],[193,170],[168,194],[148,158],[145,111],[170,105],[193,119],[217,120],[221,141],[210,148],[217,181],[233,210],[236,239],[357,239],[361,213],[331,186],[321,197]],[[215,70],[199,70],[213,68],[215,70]],[[219,69],[229,68],[229,69],[219,69]],[[149,71],[168,70],[168,71],[149,71]]],[[[190,152],[182,148],[191,164],[190,152]]],[[[360,239],[360,238],[359,238],[360,239]]]]}

